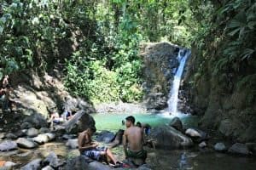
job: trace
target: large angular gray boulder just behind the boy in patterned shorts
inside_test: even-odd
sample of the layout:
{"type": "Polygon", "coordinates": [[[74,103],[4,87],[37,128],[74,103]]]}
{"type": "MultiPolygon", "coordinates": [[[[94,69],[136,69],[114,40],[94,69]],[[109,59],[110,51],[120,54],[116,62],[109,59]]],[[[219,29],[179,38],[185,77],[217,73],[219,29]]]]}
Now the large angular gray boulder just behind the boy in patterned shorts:
{"type": "Polygon", "coordinates": [[[93,117],[83,110],[78,111],[64,126],[66,127],[67,133],[79,133],[86,130],[88,127],[90,127],[92,131],[96,131],[93,117]]]}

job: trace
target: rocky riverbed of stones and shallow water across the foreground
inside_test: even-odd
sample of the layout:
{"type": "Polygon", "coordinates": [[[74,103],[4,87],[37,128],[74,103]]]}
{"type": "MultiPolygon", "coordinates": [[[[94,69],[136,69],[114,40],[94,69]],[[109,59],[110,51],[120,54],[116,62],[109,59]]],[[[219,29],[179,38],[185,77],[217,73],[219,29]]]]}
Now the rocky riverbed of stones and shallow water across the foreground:
{"type": "MultiPolygon", "coordinates": [[[[79,126],[84,117],[88,120],[90,115],[80,111],[73,122],[55,126],[54,130],[38,128],[32,122],[23,122],[16,132],[2,129],[0,169],[112,169],[79,156],[77,132],[79,128],[86,128],[79,126]]],[[[86,124],[94,126],[92,121],[86,124]]],[[[113,138],[114,132],[108,131],[95,136],[103,145],[109,145],[113,138]]],[[[253,169],[256,166],[253,156],[256,144],[230,143],[213,133],[183,127],[179,118],[173,118],[169,125],[154,127],[149,138],[154,143],[146,146],[147,164],[138,169],[253,169]],[[210,162],[211,168],[208,167],[210,162]],[[228,166],[229,163],[232,166],[228,166]]],[[[121,145],[112,150],[119,160],[125,160],[121,145]]]]}

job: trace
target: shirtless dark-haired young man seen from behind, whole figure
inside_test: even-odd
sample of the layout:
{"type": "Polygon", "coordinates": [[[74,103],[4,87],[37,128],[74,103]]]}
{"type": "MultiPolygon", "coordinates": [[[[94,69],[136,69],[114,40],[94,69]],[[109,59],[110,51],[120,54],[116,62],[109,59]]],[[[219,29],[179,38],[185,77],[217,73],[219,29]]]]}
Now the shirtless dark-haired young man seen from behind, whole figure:
{"type": "Polygon", "coordinates": [[[134,125],[134,116],[125,118],[125,133],[123,135],[123,145],[126,158],[140,159],[143,163],[147,158],[147,151],[143,149],[143,129],[134,125]]]}

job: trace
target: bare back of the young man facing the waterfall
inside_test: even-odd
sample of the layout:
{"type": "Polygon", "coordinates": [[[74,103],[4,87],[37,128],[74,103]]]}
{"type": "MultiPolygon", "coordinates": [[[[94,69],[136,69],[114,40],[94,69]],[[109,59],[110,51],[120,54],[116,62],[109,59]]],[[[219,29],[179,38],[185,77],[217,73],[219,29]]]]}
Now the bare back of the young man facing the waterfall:
{"type": "Polygon", "coordinates": [[[143,150],[143,130],[140,127],[129,127],[124,133],[129,150],[143,150]]]}

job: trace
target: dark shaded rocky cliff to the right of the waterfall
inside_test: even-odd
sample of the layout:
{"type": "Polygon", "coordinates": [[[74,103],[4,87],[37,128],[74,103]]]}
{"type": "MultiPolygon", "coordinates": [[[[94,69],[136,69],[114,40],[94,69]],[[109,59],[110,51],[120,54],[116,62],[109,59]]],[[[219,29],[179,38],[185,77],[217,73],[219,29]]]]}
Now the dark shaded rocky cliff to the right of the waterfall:
{"type": "Polygon", "coordinates": [[[218,130],[239,142],[256,141],[256,60],[244,60],[216,71],[221,56],[202,59],[196,48],[188,61],[182,90],[201,127],[218,130]],[[236,71],[234,68],[237,68],[236,71]]]}

